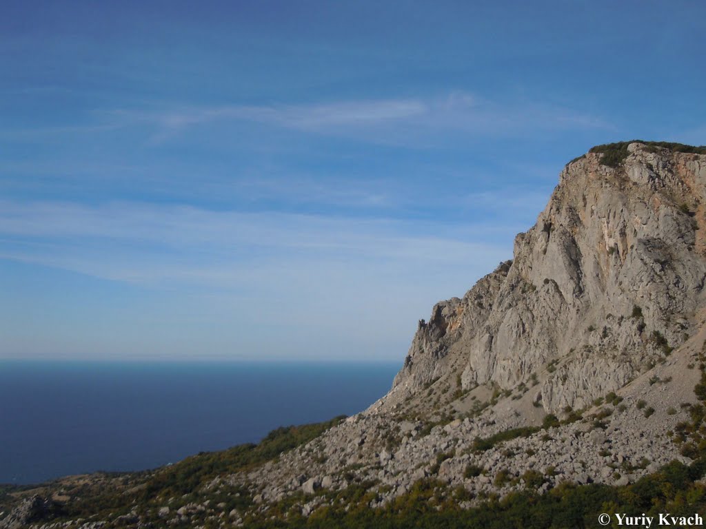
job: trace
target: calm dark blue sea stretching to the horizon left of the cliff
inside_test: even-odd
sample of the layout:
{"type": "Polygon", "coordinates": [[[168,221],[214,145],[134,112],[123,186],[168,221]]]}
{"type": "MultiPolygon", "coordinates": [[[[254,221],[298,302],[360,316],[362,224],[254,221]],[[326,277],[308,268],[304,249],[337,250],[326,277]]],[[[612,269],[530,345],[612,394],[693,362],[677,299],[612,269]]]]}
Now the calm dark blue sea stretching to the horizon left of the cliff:
{"type": "Polygon", "coordinates": [[[143,470],[362,411],[395,364],[0,362],[0,483],[143,470]]]}

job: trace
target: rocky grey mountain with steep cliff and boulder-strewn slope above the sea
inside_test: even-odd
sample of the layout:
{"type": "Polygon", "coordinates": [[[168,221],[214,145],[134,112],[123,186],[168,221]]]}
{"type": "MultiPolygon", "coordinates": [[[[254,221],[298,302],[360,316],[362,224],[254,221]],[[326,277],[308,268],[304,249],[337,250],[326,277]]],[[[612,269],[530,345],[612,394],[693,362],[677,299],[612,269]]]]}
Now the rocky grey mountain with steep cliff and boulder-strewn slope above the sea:
{"type": "Polygon", "coordinates": [[[5,492],[0,528],[250,526],[383,508],[420,483],[441,491],[429,499],[439,508],[470,509],[693,464],[698,439],[684,432],[703,400],[705,192],[703,147],[594,147],[563,169],[513,260],[419,322],[392,389],[366,411],[274,456],[211,457],[208,472],[194,459],[180,474],[5,492]],[[194,472],[193,485],[174,485],[194,472]],[[90,498],[102,501],[95,513],[90,498]]]}

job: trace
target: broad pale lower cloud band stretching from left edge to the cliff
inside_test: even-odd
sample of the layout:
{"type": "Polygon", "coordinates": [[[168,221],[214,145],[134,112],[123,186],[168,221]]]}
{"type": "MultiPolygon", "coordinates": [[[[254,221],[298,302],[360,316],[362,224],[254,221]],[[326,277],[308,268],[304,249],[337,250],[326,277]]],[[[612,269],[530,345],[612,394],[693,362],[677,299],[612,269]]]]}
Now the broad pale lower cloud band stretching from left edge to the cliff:
{"type": "Polygon", "coordinates": [[[509,248],[441,226],[410,235],[412,226],[389,219],[131,203],[3,202],[0,209],[1,257],[145,284],[242,288],[257,276],[260,288],[272,288],[273,279],[296,282],[311,270],[355,276],[361,269],[444,267],[478,255],[495,262],[509,248]]]}

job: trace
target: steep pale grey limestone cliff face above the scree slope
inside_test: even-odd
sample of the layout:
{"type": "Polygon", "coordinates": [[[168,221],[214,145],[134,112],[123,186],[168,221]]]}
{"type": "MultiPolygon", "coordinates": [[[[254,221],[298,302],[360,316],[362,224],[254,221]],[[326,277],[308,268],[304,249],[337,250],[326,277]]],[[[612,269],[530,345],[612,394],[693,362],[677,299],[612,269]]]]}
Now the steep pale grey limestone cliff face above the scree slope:
{"type": "Polygon", "coordinates": [[[393,392],[457,375],[464,389],[538,377],[546,411],[578,408],[693,334],[706,155],[633,142],[617,167],[603,156],[568,164],[513,260],[419,322],[393,392]]]}

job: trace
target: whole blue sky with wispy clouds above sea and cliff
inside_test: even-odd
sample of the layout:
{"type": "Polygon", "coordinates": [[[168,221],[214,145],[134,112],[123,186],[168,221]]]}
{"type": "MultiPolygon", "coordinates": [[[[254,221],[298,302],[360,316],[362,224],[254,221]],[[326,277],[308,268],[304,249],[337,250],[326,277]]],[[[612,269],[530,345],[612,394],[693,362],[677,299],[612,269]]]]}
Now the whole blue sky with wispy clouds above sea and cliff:
{"type": "Polygon", "coordinates": [[[4,1],[0,359],[405,357],[570,159],[706,144],[702,1],[4,1]]]}

